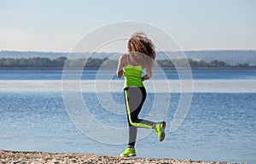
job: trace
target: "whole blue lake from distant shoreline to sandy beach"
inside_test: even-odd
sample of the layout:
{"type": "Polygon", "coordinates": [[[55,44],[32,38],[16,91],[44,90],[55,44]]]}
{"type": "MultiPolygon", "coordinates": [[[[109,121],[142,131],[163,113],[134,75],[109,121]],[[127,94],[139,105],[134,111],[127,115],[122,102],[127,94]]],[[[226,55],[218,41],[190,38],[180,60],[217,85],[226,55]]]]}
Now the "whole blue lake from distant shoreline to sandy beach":
{"type": "MultiPolygon", "coordinates": [[[[81,77],[84,85],[94,80],[97,73],[84,71],[81,77]]],[[[113,74],[112,71],[103,73],[113,74]]],[[[61,74],[61,71],[0,71],[0,149],[119,156],[125,144],[102,143],[74,126],[63,102],[61,74]],[[48,81],[57,83],[41,85],[48,81]]],[[[160,80],[157,72],[154,78],[160,80]]],[[[116,80],[116,77],[112,79],[116,80]]],[[[177,72],[166,71],[166,79],[177,81],[177,72]]],[[[256,163],[256,71],[193,71],[193,79],[195,90],[188,115],[174,132],[169,131],[170,124],[182,93],[175,88],[169,94],[148,89],[140,115],[143,118],[147,118],[156,97],[170,95],[169,102],[166,99],[157,102],[159,108],[169,104],[167,111],[159,112],[167,123],[166,139],[160,143],[153,132],[148,133],[137,141],[137,156],[256,163]]],[[[108,127],[127,127],[121,88],[119,92],[111,90],[110,93],[86,91],[87,88],[82,89],[82,98],[91,116],[108,127]],[[115,104],[109,103],[108,108],[123,109],[119,114],[107,110],[99,101],[109,95],[115,104]]],[[[91,126],[90,122],[86,124],[91,126]]],[[[110,140],[111,133],[103,129],[94,132],[110,140]]],[[[126,136],[126,133],[122,135],[126,136]]]]}

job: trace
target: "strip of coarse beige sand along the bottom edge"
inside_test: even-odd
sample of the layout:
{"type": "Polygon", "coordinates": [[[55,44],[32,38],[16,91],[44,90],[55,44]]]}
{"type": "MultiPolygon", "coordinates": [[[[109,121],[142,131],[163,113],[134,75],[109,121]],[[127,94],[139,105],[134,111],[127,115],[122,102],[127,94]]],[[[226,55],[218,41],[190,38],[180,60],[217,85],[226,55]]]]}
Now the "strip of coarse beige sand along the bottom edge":
{"type": "Polygon", "coordinates": [[[25,151],[8,151],[0,150],[0,163],[15,164],[73,164],[73,163],[161,163],[161,164],[230,164],[225,161],[193,161],[193,160],[173,160],[173,159],[156,159],[156,158],[137,158],[137,157],[119,157],[104,156],[93,154],[79,153],[43,153],[43,152],[25,152],[25,151]]]}

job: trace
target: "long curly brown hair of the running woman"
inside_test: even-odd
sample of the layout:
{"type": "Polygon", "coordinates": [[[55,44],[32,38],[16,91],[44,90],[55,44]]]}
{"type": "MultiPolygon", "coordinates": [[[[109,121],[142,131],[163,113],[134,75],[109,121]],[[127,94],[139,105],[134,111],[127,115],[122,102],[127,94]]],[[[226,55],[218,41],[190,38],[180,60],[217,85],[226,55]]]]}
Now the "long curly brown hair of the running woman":
{"type": "Polygon", "coordinates": [[[136,32],[131,36],[128,41],[128,53],[133,65],[152,67],[154,64],[154,43],[143,32],[136,32]]]}

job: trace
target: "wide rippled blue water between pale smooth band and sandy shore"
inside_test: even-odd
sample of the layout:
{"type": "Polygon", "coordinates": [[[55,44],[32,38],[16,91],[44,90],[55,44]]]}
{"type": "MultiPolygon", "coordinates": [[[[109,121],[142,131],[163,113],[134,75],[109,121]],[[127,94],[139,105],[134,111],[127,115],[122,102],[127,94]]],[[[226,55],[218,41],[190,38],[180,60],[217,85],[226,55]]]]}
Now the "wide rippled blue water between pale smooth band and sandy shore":
{"type": "MultiPolygon", "coordinates": [[[[99,107],[96,95],[88,94],[84,93],[84,97],[90,96],[90,105],[99,107]]],[[[117,100],[121,104],[122,93],[113,94],[120,97],[117,100]]],[[[0,93],[0,99],[0,148],[3,150],[118,156],[125,147],[102,144],[81,133],[67,116],[61,93],[0,93]]],[[[153,93],[148,94],[148,105],[150,99],[154,99],[153,93]]],[[[165,119],[168,127],[178,99],[179,94],[172,94],[165,119]]],[[[137,156],[253,163],[256,161],[255,100],[256,93],[195,93],[182,126],[174,133],[167,133],[163,143],[157,141],[154,133],[137,142],[137,156]]],[[[147,116],[147,104],[142,117],[147,116]]],[[[114,127],[126,127],[125,115],[110,115],[101,107],[95,108],[92,114],[100,122],[110,124],[111,120],[114,127]]]]}

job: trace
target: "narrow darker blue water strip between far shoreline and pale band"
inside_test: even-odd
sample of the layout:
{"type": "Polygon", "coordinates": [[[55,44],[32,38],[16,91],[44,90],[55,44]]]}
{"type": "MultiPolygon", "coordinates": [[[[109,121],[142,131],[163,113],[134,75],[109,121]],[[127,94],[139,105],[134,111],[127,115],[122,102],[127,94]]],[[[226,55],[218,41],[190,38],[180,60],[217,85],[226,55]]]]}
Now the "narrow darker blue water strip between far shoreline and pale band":
{"type": "MultiPolygon", "coordinates": [[[[73,73],[79,71],[71,71],[73,73]]],[[[188,72],[188,71],[181,71],[188,72]]],[[[59,70],[0,70],[0,80],[61,80],[62,71],[59,70]]],[[[256,79],[255,70],[194,70],[192,71],[194,79],[256,79]]],[[[80,79],[92,80],[96,79],[97,75],[113,76],[113,79],[117,79],[115,76],[115,70],[112,71],[83,71],[80,79]]],[[[153,71],[154,79],[162,79],[166,76],[167,79],[179,79],[177,71],[165,70],[165,71],[153,71]],[[165,75],[163,75],[163,73],[165,75]]]]}

